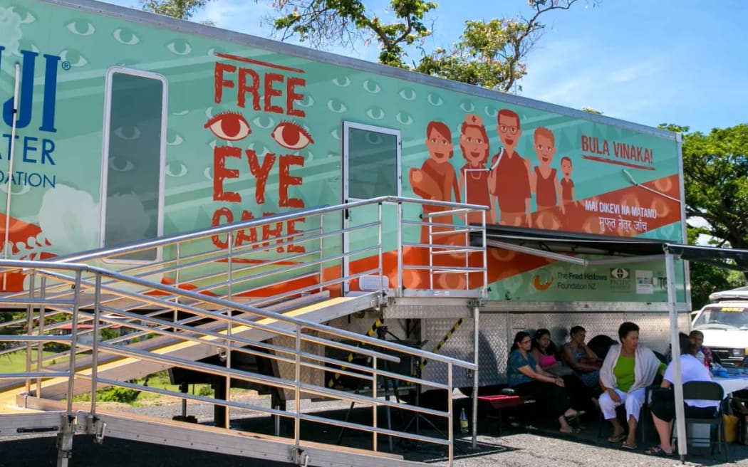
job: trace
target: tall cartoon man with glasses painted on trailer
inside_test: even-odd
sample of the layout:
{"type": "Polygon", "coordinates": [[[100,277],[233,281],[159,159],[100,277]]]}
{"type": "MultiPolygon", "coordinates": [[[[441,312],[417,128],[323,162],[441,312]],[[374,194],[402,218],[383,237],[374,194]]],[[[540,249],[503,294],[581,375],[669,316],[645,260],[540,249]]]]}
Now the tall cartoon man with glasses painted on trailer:
{"type": "Polygon", "coordinates": [[[494,216],[500,224],[532,227],[530,218],[530,161],[522,158],[515,149],[522,135],[519,115],[503,108],[497,115],[496,131],[501,140],[501,149],[491,159],[488,174],[488,191],[491,193],[491,208],[499,206],[494,216]]]}

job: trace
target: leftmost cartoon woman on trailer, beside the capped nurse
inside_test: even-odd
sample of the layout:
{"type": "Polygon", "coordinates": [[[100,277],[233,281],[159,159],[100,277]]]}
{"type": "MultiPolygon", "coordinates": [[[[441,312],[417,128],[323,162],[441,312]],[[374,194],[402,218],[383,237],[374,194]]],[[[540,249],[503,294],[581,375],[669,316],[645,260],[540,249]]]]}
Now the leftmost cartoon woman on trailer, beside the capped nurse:
{"type": "MultiPolygon", "coordinates": [[[[424,200],[454,201],[460,202],[457,175],[454,167],[450,164],[450,158],[454,153],[452,143],[452,132],[442,122],[429,122],[426,126],[426,149],[429,150],[429,158],[423,162],[420,169],[413,168],[410,172],[410,182],[413,191],[424,200]]],[[[423,221],[428,222],[427,214],[438,211],[446,211],[444,206],[423,205],[423,221]]],[[[431,217],[432,223],[453,223],[452,216],[431,217]]],[[[438,232],[449,227],[435,226],[432,231],[438,232]]],[[[428,243],[428,229],[421,229],[421,243],[428,243]],[[425,237],[424,237],[425,236],[425,237]]]]}

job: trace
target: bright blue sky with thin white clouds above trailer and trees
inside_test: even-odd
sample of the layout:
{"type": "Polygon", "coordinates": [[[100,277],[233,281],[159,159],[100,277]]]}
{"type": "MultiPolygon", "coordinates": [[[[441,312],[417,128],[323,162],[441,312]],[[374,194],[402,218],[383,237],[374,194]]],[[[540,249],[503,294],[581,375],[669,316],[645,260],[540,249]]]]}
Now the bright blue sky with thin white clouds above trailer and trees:
{"type": "MultiPolygon", "coordinates": [[[[438,0],[437,0],[438,1],[438,0]]],[[[109,0],[137,7],[138,0],[109,0]]],[[[427,16],[423,49],[449,49],[468,19],[528,15],[527,0],[441,0],[427,16]],[[465,7],[465,5],[470,7],[465,7]]],[[[270,37],[269,0],[213,0],[194,16],[220,28],[270,37]]],[[[387,1],[366,2],[393,19],[387,1]]],[[[649,126],[677,123],[709,132],[748,117],[748,1],[579,0],[546,13],[545,34],[527,56],[521,96],[571,108],[594,108],[649,126]]],[[[375,44],[331,48],[375,61],[375,44]]],[[[418,52],[407,59],[417,61],[418,52]]]]}

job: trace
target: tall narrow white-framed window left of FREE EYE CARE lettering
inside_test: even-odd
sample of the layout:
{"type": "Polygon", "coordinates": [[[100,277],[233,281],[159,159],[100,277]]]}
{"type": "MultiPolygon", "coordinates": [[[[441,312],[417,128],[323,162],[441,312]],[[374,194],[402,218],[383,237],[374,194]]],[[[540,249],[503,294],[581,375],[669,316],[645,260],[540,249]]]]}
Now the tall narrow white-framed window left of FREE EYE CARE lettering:
{"type": "MultiPolygon", "coordinates": [[[[163,233],[167,89],[162,75],[114,67],[106,76],[101,246],[163,233]]],[[[160,249],[118,256],[154,262],[160,249]]]]}

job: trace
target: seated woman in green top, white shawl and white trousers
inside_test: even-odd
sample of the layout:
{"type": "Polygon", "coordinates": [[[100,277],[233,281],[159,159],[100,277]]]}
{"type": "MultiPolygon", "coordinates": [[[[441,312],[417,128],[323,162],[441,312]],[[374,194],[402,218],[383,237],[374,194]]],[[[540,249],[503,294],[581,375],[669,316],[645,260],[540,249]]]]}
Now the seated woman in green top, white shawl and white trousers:
{"type": "Polygon", "coordinates": [[[636,449],[634,436],[639,422],[639,412],[644,403],[645,389],[652,384],[658,371],[664,371],[652,350],[639,345],[639,327],[623,323],[618,328],[619,345],[613,345],[600,368],[600,383],[604,392],[600,396],[600,409],[606,420],[613,424],[609,442],[620,442],[622,448],[636,449]],[[625,404],[628,436],[616,418],[616,407],[625,404]]]}

